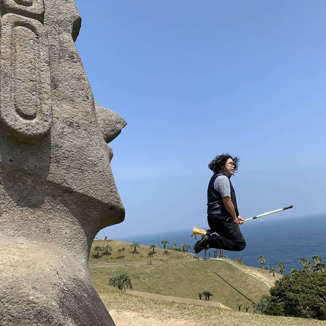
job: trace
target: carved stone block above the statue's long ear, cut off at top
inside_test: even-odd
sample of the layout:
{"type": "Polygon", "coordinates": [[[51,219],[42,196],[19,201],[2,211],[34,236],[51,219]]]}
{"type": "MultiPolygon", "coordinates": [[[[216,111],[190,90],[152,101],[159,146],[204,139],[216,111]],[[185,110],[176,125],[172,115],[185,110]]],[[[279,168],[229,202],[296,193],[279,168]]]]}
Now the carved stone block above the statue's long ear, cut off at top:
{"type": "Polygon", "coordinates": [[[8,13],[44,20],[44,0],[0,0],[1,15],[8,13]]]}

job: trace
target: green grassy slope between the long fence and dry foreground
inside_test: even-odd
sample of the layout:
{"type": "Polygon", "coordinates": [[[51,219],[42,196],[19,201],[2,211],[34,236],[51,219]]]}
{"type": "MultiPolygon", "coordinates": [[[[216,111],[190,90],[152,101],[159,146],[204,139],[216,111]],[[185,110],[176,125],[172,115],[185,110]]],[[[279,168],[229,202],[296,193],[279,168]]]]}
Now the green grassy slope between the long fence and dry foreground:
{"type": "Polygon", "coordinates": [[[98,289],[106,285],[109,276],[114,273],[126,273],[131,277],[137,291],[199,299],[198,293],[208,290],[213,293],[210,300],[221,302],[232,309],[237,309],[238,304],[252,309],[250,301],[214,272],[252,301],[257,301],[263,294],[269,293],[262,282],[220,260],[90,269],[91,278],[98,289]]]}

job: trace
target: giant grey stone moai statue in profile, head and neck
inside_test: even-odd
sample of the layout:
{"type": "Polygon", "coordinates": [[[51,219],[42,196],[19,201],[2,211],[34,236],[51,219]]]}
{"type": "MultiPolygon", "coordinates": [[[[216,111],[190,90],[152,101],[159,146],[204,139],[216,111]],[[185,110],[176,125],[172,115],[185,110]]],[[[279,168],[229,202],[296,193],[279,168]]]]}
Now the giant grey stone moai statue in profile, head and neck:
{"type": "Polygon", "coordinates": [[[126,122],[94,101],[73,0],[0,13],[0,325],[114,325],[88,255],[124,220],[107,143],[126,122]]]}

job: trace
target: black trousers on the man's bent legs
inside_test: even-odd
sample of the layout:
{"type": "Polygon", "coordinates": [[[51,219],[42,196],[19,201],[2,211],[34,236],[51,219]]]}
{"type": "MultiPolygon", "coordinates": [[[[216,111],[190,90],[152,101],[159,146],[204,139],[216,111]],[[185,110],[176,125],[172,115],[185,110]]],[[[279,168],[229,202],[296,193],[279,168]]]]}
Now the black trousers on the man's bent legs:
{"type": "Polygon", "coordinates": [[[245,248],[245,240],[239,226],[230,217],[222,215],[209,215],[208,225],[212,231],[219,235],[213,235],[208,240],[209,248],[241,251],[245,248]]]}

